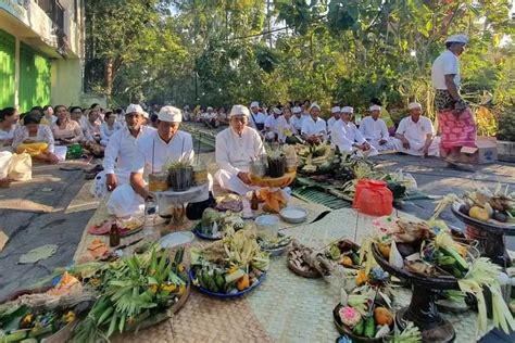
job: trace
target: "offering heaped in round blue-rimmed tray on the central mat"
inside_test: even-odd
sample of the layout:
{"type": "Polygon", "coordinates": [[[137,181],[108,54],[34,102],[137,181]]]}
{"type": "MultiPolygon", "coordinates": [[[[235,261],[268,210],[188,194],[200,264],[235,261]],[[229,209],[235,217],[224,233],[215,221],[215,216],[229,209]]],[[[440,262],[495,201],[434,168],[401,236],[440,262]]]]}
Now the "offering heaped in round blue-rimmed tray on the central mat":
{"type": "Polygon", "coordinates": [[[238,297],[261,284],[268,265],[269,254],[262,251],[256,232],[249,228],[202,249],[191,249],[190,278],[202,293],[238,297]]]}

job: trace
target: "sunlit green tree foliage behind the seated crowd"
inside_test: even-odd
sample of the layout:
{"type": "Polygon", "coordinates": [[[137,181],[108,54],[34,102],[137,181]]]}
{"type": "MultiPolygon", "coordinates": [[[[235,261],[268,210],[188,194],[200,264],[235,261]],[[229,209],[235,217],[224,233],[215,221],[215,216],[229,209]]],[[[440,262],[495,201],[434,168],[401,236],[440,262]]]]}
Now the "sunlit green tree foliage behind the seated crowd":
{"type": "Polygon", "coordinates": [[[312,99],[363,111],[377,97],[393,113],[412,100],[432,113],[431,63],[445,37],[465,33],[464,96],[514,104],[508,0],[87,3],[93,56],[103,69],[112,61],[118,98],[129,89],[180,105],[312,99]]]}

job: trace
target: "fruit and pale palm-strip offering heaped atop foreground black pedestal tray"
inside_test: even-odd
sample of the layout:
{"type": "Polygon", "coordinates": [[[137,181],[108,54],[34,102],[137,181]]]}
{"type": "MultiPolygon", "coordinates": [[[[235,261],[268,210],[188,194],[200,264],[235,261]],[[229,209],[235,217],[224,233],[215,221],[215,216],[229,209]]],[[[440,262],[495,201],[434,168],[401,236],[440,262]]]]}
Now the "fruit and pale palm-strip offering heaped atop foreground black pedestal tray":
{"type": "Polygon", "coordinates": [[[387,261],[389,266],[401,270],[405,277],[427,280],[426,284],[439,281],[456,283],[462,292],[477,300],[478,334],[487,330],[483,290],[488,289],[492,294],[493,325],[506,333],[515,329],[515,320],[502,297],[500,280],[505,275],[501,267],[489,258],[479,257],[474,246],[454,240],[445,223],[398,218],[375,225],[380,233],[364,241],[362,253],[370,253],[374,246],[377,256],[387,261]]]}

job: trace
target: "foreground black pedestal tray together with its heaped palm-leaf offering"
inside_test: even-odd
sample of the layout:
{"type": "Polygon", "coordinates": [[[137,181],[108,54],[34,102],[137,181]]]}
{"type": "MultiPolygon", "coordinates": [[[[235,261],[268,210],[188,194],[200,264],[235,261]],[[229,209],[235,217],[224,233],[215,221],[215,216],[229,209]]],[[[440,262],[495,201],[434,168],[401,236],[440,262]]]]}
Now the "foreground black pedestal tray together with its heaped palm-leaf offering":
{"type": "Polygon", "coordinates": [[[380,267],[413,287],[410,306],[395,315],[399,328],[413,321],[425,341],[452,341],[454,329],[440,316],[435,302],[441,291],[459,290],[476,298],[477,335],[482,335],[487,330],[486,289],[492,294],[493,325],[505,332],[515,328],[501,295],[501,268],[479,257],[475,246],[455,241],[442,220],[385,220],[366,242],[362,253],[373,254],[380,267]]]}

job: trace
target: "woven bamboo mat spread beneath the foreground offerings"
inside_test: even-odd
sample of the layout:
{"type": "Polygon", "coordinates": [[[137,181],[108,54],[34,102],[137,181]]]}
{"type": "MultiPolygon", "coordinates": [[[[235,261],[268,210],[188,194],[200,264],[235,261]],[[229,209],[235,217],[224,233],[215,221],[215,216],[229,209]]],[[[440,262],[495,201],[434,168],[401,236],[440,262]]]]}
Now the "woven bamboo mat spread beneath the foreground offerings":
{"type": "MultiPolygon", "coordinates": [[[[303,205],[309,208],[310,218],[316,216],[314,208],[324,208],[303,205]]],[[[413,218],[404,213],[398,215],[413,218]]],[[[101,204],[88,225],[105,216],[105,206],[101,204]]],[[[351,208],[342,208],[329,213],[319,221],[299,225],[284,232],[313,247],[323,249],[341,237],[360,242],[372,230],[374,219],[351,208]]],[[[136,239],[138,234],[141,233],[130,239],[136,239]]],[[[80,243],[83,251],[90,237],[85,232],[80,243]]],[[[191,245],[198,244],[205,242],[196,241],[191,245]]],[[[79,255],[77,250],[76,257],[79,255]]],[[[397,289],[393,298],[395,308],[407,306],[411,291],[397,289]]],[[[332,308],[338,302],[339,290],[336,285],[323,279],[299,277],[287,268],[286,256],[272,257],[266,279],[247,296],[223,301],[192,290],[185,307],[174,317],[137,334],[126,334],[123,341],[334,342],[338,331],[332,323],[332,308]]],[[[475,330],[472,329],[476,327],[475,313],[443,317],[453,323],[456,342],[475,341],[475,330]]]]}

